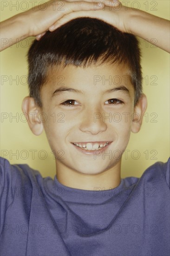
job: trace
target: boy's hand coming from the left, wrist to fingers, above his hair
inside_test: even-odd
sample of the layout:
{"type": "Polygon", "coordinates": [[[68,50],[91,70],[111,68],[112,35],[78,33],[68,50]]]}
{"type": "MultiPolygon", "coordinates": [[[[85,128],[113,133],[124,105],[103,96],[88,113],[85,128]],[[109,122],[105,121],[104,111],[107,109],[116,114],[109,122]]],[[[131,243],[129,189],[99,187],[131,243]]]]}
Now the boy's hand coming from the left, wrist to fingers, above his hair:
{"type": "Polygon", "coordinates": [[[50,0],[35,7],[34,10],[30,9],[19,15],[24,26],[26,24],[29,26],[28,36],[37,36],[37,40],[39,40],[49,27],[56,24],[56,21],[63,16],[72,12],[94,10],[94,5],[97,10],[103,8],[103,5],[98,5],[93,0],[50,0]],[[43,11],[43,9],[45,10],[43,11]]]}

